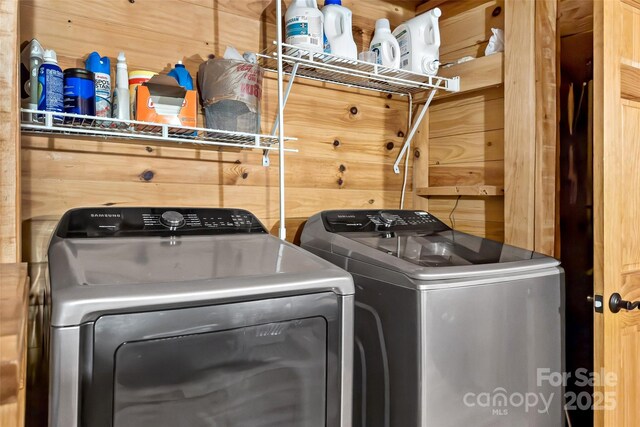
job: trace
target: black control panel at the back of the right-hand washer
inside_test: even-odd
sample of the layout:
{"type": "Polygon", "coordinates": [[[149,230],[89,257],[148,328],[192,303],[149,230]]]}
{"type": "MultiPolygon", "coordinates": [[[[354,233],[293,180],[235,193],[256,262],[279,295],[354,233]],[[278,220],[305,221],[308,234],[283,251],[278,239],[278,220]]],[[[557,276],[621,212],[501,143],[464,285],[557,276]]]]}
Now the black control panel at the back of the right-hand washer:
{"type": "Polygon", "coordinates": [[[439,232],[449,227],[425,211],[358,210],[322,213],[325,229],[331,233],[417,231],[439,232]]]}

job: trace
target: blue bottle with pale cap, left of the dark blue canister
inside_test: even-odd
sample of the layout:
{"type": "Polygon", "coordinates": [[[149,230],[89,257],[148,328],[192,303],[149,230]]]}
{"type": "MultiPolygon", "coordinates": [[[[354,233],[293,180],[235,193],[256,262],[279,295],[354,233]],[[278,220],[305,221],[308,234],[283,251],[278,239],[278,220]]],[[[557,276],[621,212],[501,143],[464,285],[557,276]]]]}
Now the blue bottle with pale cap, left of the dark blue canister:
{"type": "MultiPolygon", "coordinates": [[[[58,66],[58,58],[53,50],[45,50],[44,63],[38,69],[38,110],[64,111],[64,75],[58,66]]],[[[39,115],[38,120],[43,120],[39,115]]],[[[62,116],[53,116],[56,123],[62,122],[62,116]]]]}

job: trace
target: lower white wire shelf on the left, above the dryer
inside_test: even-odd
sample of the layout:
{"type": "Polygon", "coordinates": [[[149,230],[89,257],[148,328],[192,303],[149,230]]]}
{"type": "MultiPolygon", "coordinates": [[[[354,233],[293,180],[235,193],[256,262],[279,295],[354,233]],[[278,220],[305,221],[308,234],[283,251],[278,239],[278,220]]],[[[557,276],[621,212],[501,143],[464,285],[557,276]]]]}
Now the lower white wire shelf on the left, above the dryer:
{"type": "MultiPolygon", "coordinates": [[[[219,129],[21,109],[23,133],[165,141],[199,146],[278,150],[278,137],[219,129]]],[[[295,141],[297,138],[285,138],[295,141]]],[[[297,152],[285,148],[285,151],[297,152]]]]}

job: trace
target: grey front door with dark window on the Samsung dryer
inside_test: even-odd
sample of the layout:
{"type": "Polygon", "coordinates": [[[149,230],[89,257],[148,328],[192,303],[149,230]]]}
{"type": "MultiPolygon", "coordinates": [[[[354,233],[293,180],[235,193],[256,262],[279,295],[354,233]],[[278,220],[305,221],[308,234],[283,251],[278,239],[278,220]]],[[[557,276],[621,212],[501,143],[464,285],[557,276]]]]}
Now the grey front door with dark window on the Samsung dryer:
{"type": "Polygon", "coordinates": [[[337,425],[338,313],[331,293],[103,316],[82,425],[337,425]]]}

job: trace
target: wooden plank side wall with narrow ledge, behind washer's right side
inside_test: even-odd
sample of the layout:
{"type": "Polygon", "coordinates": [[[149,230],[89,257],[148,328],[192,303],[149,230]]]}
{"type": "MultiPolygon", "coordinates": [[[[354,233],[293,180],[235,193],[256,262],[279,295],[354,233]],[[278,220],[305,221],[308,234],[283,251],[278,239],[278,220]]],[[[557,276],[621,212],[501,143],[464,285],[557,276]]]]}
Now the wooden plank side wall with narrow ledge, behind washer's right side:
{"type": "MultiPolygon", "coordinates": [[[[429,3],[427,3],[428,5],[429,3]]],[[[504,29],[504,0],[451,0],[440,5],[443,64],[465,56],[479,58],[491,28],[504,29]]],[[[469,62],[469,68],[474,66],[469,62]]],[[[504,90],[493,88],[436,100],[417,148],[428,160],[416,160],[416,187],[504,184],[504,90]],[[428,177],[422,176],[428,168],[428,177]]],[[[415,196],[428,209],[461,231],[503,240],[502,197],[415,196]],[[455,209],[454,209],[455,208],[455,209]],[[453,213],[452,213],[453,212],[453,213]],[[450,219],[451,217],[451,219],[450,219]],[[454,224],[455,222],[455,224],[454,224]]]]}

